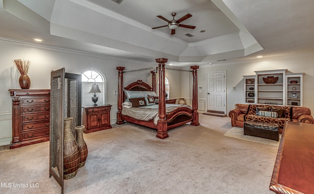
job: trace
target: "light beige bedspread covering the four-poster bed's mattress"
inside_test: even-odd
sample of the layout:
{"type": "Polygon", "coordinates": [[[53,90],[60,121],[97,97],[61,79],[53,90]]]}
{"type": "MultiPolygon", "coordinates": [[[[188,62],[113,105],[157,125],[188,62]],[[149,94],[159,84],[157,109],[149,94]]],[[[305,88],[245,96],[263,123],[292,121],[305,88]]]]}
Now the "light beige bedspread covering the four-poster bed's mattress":
{"type": "MultiPolygon", "coordinates": [[[[166,113],[174,111],[178,109],[179,107],[188,107],[189,109],[191,109],[189,105],[175,105],[175,106],[170,105],[170,104],[168,106],[167,105],[168,104],[166,104],[166,113]]],[[[136,120],[149,121],[149,120],[154,119],[154,124],[157,125],[157,122],[159,119],[158,106],[151,105],[151,106],[145,106],[145,107],[141,107],[141,108],[132,107],[129,109],[123,108],[121,113],[123,115],[135,118],[136,120]],[[145,107],[149,107],[149,108],[145,108],[145,107]]]]}

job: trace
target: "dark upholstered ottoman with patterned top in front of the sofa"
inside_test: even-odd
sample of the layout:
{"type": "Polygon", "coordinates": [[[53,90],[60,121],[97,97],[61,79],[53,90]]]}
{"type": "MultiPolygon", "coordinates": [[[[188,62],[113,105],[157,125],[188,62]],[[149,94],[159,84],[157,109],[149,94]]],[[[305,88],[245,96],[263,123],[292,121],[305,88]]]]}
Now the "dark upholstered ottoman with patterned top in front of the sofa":
{"type": "Polygon", "coordinates": [[[244,135],[255,136],[266,139],[279,140],[279,125],[273,123],[260,123],[255,121],[245,121],[244,135]]]}

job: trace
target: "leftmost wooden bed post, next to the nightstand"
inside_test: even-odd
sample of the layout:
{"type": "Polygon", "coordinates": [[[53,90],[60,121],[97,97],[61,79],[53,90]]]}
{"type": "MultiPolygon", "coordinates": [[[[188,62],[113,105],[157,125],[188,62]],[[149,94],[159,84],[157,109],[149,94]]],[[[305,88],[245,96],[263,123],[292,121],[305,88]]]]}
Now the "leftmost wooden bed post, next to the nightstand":
{"type": "Polygon", "coordinates": [[[125,67],[117,67],[118,70],[118,111],[117,111],[117,122],[116,124],[124,124],[124,120],[121,118],[122,101],[123,101],[123,70],[125,67]]]}

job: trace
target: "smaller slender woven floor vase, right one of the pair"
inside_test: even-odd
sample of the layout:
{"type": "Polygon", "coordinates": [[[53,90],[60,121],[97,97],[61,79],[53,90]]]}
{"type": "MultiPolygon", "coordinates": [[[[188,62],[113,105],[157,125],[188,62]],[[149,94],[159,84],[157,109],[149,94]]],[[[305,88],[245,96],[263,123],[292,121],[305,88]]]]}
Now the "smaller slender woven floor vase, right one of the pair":
{"type": "Polygon", "coordinates": [[[75,128],[77,130],[77,142],[78,142],[78,149],[79,149],[79,154],[80,154],[80,161],[78,167],[82,167],[85,165],[86,159],[87,159],[87,145],[86,142],[83,138],[83,132],[85,129],[85,126],[77,126],[75,128]]]}

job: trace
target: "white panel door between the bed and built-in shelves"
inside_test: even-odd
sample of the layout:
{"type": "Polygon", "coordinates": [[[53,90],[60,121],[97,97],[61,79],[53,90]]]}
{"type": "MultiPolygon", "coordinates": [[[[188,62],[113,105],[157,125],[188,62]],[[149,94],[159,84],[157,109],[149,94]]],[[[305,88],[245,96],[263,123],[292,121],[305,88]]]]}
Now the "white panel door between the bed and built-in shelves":
{"type": "Polygon", "coordinates": [[[207,110],[225,112],[225,72],[207,74],[207,110]]]}

